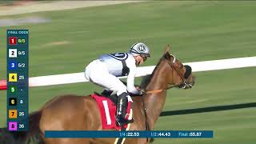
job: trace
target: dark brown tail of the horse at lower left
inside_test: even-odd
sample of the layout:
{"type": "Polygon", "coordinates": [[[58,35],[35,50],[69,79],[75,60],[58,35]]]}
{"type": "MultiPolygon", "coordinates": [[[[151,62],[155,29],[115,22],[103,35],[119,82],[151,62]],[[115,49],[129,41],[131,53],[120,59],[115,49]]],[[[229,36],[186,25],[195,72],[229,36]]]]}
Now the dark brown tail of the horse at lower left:
{"type": "Polygon", "coordinates": [[[39,121],[42,111],[36,111],[29,116],[29,130],[26,132],[10,132],[7,128],[0,129],[1,144],[43,144],[39,121]]]}

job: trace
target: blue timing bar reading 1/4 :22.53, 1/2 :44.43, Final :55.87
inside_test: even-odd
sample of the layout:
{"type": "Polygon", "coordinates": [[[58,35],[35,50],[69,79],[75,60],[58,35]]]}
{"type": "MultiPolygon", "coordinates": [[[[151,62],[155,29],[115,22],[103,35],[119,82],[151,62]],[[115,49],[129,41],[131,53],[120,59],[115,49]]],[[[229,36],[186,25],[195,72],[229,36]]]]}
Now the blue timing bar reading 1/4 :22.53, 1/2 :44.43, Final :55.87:
{"type": "Polygon", "coordinates": [[[45,138],[214,138],[212,130],[45,131],[45,138]]]}

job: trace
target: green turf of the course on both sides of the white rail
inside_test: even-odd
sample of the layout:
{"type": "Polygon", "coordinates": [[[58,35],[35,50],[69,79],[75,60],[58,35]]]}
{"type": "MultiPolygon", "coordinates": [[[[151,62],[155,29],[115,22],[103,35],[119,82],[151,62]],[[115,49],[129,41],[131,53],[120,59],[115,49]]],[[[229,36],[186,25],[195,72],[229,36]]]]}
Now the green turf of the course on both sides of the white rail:
{"type": "MultiPolygon", "coordinates": [[[[39,16],[51,22],[0,29],[0,79],[6,78],[5,38],[10,28],[30,30],[30,77],[81,72],[99,54],[127,51],[138,41],[146,42],[152,51],[144,66],[156,64],[166,44],[182,62],[255,56],[255,7],[256,2],[164,1],[8,16],[39,16]]],[[[192,90],[168,91],[164,110],[256,102],[255,72],[255,68],[242,68],[195,73],[192,90]]],[[[90,83],[31,88],[30,111],[56,95],[94,90],[100,88],[90,83]]],[[[0,96],[1,127],[6,125],[6,92],[0,96]]],[[[254,143],[255,112],[247,108],[162,117],[158,130],[214,130],[214,139],[155,143],[254,143]]]]}

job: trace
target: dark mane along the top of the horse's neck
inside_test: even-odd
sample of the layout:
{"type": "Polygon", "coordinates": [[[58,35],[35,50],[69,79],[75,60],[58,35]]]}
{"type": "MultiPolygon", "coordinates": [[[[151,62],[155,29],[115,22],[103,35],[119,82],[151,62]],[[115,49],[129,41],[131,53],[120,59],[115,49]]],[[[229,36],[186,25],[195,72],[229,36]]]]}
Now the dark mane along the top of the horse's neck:
{"type": "Polygon", "coordinates": [[[154,76],[155,71],[158,69],[159,64],[162,62],[162,59],[170,59],[170,53],[166,52],[166,54],[162,55],[162,58],[158,61],[158,64],[154,67],[152,74],[146,75],[142,78],[141,87],[142,89],[146,89],[146,86],[150,83],[151,78],[154,76]]]}

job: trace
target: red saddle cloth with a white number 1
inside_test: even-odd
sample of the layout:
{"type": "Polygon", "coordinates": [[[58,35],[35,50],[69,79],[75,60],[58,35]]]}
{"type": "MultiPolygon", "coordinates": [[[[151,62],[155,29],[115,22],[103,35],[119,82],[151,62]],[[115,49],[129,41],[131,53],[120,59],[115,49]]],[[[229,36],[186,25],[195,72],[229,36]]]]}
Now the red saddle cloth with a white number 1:
{"type": "MultiPolygon", "coordinates": [[[[90,96],[94,98],[98,104],[98,109],[100,110],[100,114],[102,118],[102,130],[106,130],[106,129],[121,130],[121,126],[117,126],[115,123],[115,112],[117,109],[117,104],[112,102],[110,98],[106,98],[105,96],[102,96],[99,94],[90,94],[90,96]]],[[[126,118],[131,119],[132,118],[132,113],[131,113],[132,99],[129,97],[128,97],[128,106],[126,110],[127,112],[126,118]]],[[[124,127],[127,128],[127,125],[124,127]]]]}

